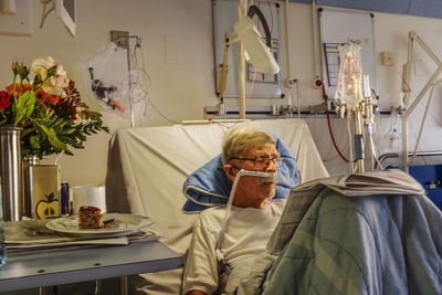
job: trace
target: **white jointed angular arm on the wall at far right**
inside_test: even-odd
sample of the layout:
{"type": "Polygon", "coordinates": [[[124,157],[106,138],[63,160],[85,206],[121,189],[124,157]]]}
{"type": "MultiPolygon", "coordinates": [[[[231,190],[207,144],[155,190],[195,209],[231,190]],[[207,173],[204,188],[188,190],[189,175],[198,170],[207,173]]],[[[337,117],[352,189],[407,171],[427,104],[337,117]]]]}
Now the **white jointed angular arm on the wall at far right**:
{"type": "Polygon", "coordinates": [[[408,57],[407,57],[407,63],[403,64],[403,69],[402,69],[402,93],[403,93],[403,97],[402,97],[402,102],[406,105],[406,110],[402,113],[402,169],[404,171],[408,172],[408,167],[410,165],[413,165],[417,152],[418,152],[418,146],[419,146],[419,141],[421,138],[421,134],[423,130],[423,125],[425,123],[425,118],[427,118],[427,114],[429,112],[429,106],[431,104],[431,99],[433,97],[433,92],[434,92],[434,87],[441,83],[441,80],[438,80],[439,74],[442,72],[442,62],[441,60],[439,60],[435,54],[429,49],[429,46],[423,42],[423,40],[415,33],[415,31],[410,31],[408,34],[409,39],[408,39],[408,57]],[[418,42],[418,44],[424,50],[424,52],[431,57],[431,60],[436,64],[436,69],[434,70],[433,74],[430,76],[430,78],[427,81],[425,85],[422,87],[422,89],[419,92],[418,96],[414,98],[414,101],[411,103],[410,106],[408,106],[410,104],[410,96],[411,96],[411,88],[410,88],[410,84],[411,84],[411,64],[413,62],[413,44],[414,41],[418,42]],[[408,127],[407,127],[407,122],[408,118],[410,117],[411,113],[413,113],[413,110],[415,109],[417,105],[422,101],[423,95],[425,95],[425,93],[431,88],[430,92],[430,96],[429,99],[427,102],[427,107],[425,107],[425,112],[424,115],[422,117],[422,122],[421,122],[421,126],[420,126],[420,130],[419,130],[419,136],[415,143],[415,147],[414,147],[414,151],[413,151],[413,156],[411,161],[408,161],[408,147],[407,147],[407,139],[408,139],[408,127]]]}

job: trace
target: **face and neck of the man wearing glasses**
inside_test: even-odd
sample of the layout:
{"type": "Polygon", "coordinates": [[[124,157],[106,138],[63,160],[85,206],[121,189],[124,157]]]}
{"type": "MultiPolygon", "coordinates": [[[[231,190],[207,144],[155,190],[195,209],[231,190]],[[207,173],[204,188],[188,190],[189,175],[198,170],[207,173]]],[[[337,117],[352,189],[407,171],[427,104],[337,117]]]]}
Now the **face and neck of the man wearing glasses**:
{"type": "MultiPolygon", "coordinates": [[[[240,169],[261,172],[277,172],[275,159],[280,158],[274,145],[249,146],[241,159],[232,159],[224,166],[224,171],[231,181],[240,169]],[[253,160],[257,159],[257,160],[253,160]],[[267,160],[271,159],[271,160],[267,160]]],[[[242,176],[233,199],[236,207],[262,208],[269,198],[275,194],[276,177],[264,178],[255,176],[242,176]]]]}

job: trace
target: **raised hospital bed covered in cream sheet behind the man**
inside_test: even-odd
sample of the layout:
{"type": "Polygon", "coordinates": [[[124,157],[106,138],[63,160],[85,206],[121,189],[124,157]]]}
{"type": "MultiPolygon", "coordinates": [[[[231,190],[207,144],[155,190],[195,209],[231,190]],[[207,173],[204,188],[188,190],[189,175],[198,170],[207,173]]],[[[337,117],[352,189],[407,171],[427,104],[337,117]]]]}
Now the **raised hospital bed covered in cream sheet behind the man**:
{"type": "MultiPolygon", "coordinates": [[[[182,185],[198,168],[221,152],[223,135],[239,123],[173,125],[117,131],[109,145],[106,202],[109,212],[145,214],[176,252],[186,255],[197,214],[182,212],[182,185]]],[[[301,181],[327,177],[303,119],[244,122],[281,138],[292,150],[301,181]]],[[[129,277],[129,294],[179,294],[182,267],[129,277]]]]}

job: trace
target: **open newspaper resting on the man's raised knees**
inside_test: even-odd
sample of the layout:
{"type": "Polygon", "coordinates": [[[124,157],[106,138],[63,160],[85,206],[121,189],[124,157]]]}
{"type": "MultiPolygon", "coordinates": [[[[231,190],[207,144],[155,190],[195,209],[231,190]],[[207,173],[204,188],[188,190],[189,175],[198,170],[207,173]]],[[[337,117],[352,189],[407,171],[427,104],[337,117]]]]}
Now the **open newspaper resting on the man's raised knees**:
{"type": "Polygon", "coordinates": [[[267,243],[267,250],[277,254],[292,238],[312,202],[324,188],[344,196],[424,194],[422,186],[402,170],[383,170],[315,179],[291,191],[278,224],[267,243]]]}

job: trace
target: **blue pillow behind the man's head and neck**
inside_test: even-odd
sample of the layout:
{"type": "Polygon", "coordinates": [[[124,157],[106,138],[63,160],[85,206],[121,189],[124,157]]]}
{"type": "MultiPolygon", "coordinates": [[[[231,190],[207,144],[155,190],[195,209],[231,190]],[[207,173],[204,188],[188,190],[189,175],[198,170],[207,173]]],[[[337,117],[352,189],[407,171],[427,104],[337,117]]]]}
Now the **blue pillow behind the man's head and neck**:
{"type": "MultiPolygon", "coordinates": [[[[276,150],[284,161],[278,167],[273,199],[286,199],[291,189],[299,183],[299,172],[292,150],[280,138],[274,138],[276,150]]],[[[207,208],[228,202],[232,182],[222,167],[219,155],[189,176],[182,188],[187,198],[182,211],[199,213],[207,208]]]]}

